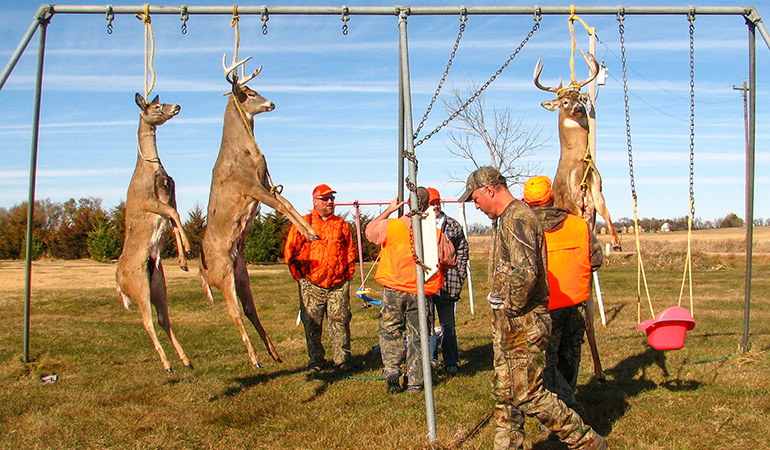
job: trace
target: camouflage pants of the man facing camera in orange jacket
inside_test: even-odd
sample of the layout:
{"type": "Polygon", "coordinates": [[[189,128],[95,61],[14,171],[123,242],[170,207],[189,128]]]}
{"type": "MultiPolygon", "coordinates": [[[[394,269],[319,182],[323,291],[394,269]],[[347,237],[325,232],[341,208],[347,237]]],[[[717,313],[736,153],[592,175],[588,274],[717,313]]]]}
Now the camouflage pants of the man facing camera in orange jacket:
{"type": "Polygon", "coordinates": [[[334,364],[350,361],[350,281],[329,289],[299,280],[300,317],[305,327],[308,367],[326,361],[321,343],[324,316],[329,319],[329,339],[334,350],[334,364]]]}

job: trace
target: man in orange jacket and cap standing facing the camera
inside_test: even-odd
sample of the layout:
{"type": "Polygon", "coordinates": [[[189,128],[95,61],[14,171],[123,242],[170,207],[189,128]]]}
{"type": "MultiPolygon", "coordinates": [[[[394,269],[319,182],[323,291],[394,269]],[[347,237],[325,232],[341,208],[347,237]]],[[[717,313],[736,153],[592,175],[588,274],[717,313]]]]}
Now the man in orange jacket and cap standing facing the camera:
{"type": "Polygon", "coordinates": [[[350,367],[350,280],[356,271],[356,246],[350,225],[334,215],[334,194],[325,184],[313,189],[313,211],[304,219],[319,239],[308,241],[294,225],[284,246],[284,259],[299,283],[300,317],[310,361],[309,374],[326,363],[321,331],[324,316],[329,319],[329,338],[334,347],[335,367],[350,367]]]}

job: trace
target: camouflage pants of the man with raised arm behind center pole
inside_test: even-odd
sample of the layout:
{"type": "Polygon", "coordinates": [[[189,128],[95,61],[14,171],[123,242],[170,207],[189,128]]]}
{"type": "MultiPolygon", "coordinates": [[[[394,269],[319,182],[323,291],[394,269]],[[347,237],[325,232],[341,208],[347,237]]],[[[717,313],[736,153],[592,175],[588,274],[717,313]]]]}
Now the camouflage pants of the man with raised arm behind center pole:
{"type": "Polygon", "coordinates": [[[383,375],[400,375],[401,365],[406,362],[409,386],[422,386],[420,315],[416,294],[383,286],[379,337],[383,375]]]}

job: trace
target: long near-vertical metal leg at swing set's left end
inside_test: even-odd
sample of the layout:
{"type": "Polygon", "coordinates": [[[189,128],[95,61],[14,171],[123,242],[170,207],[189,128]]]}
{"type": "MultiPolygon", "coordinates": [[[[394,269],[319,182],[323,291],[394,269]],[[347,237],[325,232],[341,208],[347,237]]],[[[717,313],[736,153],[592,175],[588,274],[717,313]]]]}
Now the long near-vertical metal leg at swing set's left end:
{"type": "Polygon", "coordinates": [[[45,56],[45,35],[50,15],[38,18],[40,26],[37,48],[37,71],[35,72],[35,103],[32,112],[32,148],[29,160],[29,205],[27,205],[27,246],[24,266],[24,363],[29,363],[29,311],[32,282],[32,224],[35,212],[35,179],[37,177],[37,142],[40,132],[40,97],[43,88],[43,58],[45,56]]]}

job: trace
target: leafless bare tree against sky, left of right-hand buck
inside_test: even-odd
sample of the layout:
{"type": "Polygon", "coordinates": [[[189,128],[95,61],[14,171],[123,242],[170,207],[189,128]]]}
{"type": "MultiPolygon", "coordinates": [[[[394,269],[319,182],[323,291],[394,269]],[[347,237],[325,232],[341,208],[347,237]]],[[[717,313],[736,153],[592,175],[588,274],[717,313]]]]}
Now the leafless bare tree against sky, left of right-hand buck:
{"type": "MultiPolygon", "coordinates": [[[[449,115],[454,114],[478,89],[478,83],[471,83],[466,95],[457,88],[452,89],[452,97],[442,99],[445,111],[449,115]]],[[[446,144],[447,149],[452,155],[470,161],[474,169],[484,165],[494,166],[510,183],[524,182],[540,169],[539,163],[523,159],[547,145],[546,140],[540,138],[542,128],[526,128],[520,117],[514,117],[511,108],[497,109],[493,106],[487,109],[483,93],[461,111],[449,127],[450,144],[446,144]],[[491,115],[489,122],[488,115],[491,115]],[[481,140],[485,151],[479,148],[482,145],[477,145],[478,140],[481,140]]],[[[464,182],[466,178],[447,174],[452,180],[464,182]]]]}

